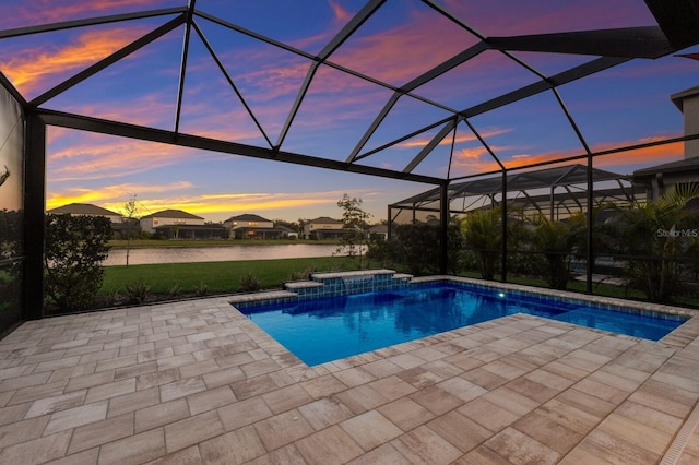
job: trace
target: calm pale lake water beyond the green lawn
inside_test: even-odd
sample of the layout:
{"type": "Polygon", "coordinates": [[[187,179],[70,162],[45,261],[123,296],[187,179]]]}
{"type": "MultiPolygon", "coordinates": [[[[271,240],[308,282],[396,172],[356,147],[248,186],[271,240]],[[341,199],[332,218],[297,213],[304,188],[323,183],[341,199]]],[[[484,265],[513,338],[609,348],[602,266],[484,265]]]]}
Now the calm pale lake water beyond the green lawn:
{"type": "MultiPolygon", "coordinates": [[[[149,263],[229,262],[236,260],[304,259],[332,257],[337,251],[333,245],[287,243],[280,246],[226,246],[226,247],[154,247],[131,249],[130,265],[149,263]]],[[[126,265],[127,251],[114,249],[103,263],[105,266],[126,265]]]]}

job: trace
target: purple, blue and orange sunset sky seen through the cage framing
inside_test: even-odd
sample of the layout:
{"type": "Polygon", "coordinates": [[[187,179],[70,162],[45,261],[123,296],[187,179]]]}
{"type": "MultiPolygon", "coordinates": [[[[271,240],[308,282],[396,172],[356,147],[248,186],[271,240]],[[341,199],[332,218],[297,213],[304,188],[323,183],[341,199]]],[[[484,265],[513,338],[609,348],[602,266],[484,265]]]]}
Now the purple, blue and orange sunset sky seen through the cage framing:
{"type": "MultiPolygon", "coordinates": [[[[198,0],[196,8],[313,57],[364,3],[198,0]]],[[[436,3],[484,36],[655,25],[642,0],[436,3]]],[[[0,29],[186,4],[183,0],[1,0],[0,29]]],[[[175,15],[2,38],[0,71],[31,100],[175,15]]],[[[275,144],[311,60],[208,19],[196,21],[240,95],[192,31],[179,131],[256,146],[275,144]]],[[[42,107],[173,130],[185,31],[185,26],[176,27],[42,107]]],[[[335,160],[345,160],[353,152],[392,91],[342,68],[400,87],[477,41],[476,36],[420,1],[389,0],[329,57],[334,68],[319,67],[282,150],[335,160]]],[[[697,51],[695,46],[682,52],[697,51]]],[[[594,58],[513,55],[545,75],[594,58]]],[[[447,118],[447,108],[463,110],[536,81],[535,74],[505,55],[483,52],[414,91],[443,108],[401,97],[360,153],[447,118]]],[[[683,135],[683,116],[670,96],[696,85],[699,61],[671,55],[632,60],[558,91],[592,151],[599,152],[683,135]]],[[[584,153],[550,92],[488,111],[470,122],[508,168],[584,153]]],[[[439,129],[357,163],[401,170],[439,129]]],[[[379,220],[386,218],[389,203],[433,188],[55,127],[48,128],[47,156],[47,208],[80,202],[122,211],[135,198],[139,215],[180,208],[209,220],[242,213],[296,220],[339,217],[336,202],[347,193],[363,199],[365,210],[379,220]]],[[[682,156],[683,144],[664,145],[600,157],[595,167],[631,174],[682,156]]],[[[459,178],[494,169],[497,164],[461,123],[415,172],[459,178]]]]}

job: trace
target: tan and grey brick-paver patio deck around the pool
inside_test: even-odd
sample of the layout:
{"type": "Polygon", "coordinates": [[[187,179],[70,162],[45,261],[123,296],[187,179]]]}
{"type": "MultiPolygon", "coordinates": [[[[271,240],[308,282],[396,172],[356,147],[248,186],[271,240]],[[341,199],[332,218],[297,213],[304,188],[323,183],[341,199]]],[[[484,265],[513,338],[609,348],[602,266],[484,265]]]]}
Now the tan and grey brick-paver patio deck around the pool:
{"type": "Polygon", "coordinates": [[[0,463],[699,463],[699,315],[655,343],[517,314],[308,368],[230,300],[22,324],[0,463]]]}

